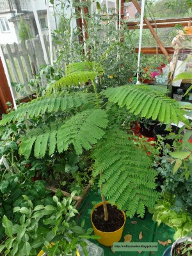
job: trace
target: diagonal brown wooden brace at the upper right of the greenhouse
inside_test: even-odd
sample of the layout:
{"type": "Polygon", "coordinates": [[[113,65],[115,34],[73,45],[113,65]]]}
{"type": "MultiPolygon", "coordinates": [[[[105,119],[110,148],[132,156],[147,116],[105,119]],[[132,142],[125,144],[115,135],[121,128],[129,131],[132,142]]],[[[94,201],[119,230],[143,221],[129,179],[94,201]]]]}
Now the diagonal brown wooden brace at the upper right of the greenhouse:
{"type": "MultiPolygon", "coordinates": [[[[138,12],[141,14],[141,7],[140,4],[138,4],[138,2],[136,0],[132,0],[132,3],[134,4],[134,6],[136,7],[136,9],[138,10],[138,12]]],[[[172,58],[170,57],[170,55],[168,54],[168,52],[166,51],[166,49],[164,48],[161,40],[159,39],[159,37],[156,35],[156,32],[154,31],[154,29],[152,28],[149,20],[147,18],[144,18],[145,23],[148,26],[148,29],[150,30],[150,32],[152,33],[152,36],[154,36],[155,40],[157,41],[157,44],[159,45],[161,51],[163,52],[164,56],[166,57],[166,59],[171,62],[172,58]]]]}

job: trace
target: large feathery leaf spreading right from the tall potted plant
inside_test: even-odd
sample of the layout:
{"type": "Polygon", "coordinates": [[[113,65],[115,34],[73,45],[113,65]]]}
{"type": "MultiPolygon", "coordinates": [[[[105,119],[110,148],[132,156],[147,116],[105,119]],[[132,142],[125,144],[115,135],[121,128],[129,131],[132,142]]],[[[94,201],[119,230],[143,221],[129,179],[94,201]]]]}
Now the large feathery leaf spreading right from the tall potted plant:
{"type": "Polygon", "coordinates": [[[103,94],[109,98],[109,102],[117,103],[120,108],[126,106],[134,115],[158,119],[166,124],[187,122],[177,101],[166,97],[154,86],[127,85],[108,88],[103,94]]]}

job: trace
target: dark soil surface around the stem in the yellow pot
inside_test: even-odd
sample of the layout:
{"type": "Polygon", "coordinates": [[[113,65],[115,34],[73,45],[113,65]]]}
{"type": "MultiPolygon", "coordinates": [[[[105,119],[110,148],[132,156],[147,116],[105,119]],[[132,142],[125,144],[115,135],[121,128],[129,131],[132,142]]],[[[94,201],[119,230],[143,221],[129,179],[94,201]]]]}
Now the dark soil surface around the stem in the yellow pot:
{"type": "Polygon", "coordinates": [[[116,205],[107,204],[109,219],[104,220],[103,205],[93,211],[92,221],[95,227],[102,232],[114,232],[124,225],[124,214],[118,210],[116,205]]]}

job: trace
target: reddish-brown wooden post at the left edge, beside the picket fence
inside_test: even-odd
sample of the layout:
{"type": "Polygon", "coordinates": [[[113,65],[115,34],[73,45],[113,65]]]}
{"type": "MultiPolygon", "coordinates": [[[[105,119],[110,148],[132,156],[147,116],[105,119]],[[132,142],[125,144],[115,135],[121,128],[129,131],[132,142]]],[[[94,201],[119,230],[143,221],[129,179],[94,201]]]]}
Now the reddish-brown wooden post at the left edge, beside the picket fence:
{"type": "Polygon", "coordinates": [[[4,73],[4,67],[1,61],[1,58],[0,58],[0,101],[1,101],[1,106],[3,108],[4,113],[6,113],[7,109],[9,108],[6,105],[6,102],[10,101],[12,102],[12,105],[13,105],[12,93],[8,86],[8,81],[4,73]]]}

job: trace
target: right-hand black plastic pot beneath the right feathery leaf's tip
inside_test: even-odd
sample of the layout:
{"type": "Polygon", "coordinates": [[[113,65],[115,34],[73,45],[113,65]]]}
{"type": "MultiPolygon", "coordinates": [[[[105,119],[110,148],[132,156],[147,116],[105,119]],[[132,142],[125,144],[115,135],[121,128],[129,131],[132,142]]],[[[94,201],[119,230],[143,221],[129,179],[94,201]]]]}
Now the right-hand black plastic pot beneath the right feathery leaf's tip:
{"type": "MultiPolygon", "coordinates": [[[[172,132],[174,132],[175,134],[178,134],[179,132],[179,127],[172,125],[172,132]]],[[[157,135],[161,135],[161,137],[165,138],[166,136],[168,136],[168,134],[170,134],[170,131],[165,131],[166,128],[166,124],[163,125],[156,125],[156,127],[154,127],[154,136],[155,139],[157,141],[157,135]]],[[[164,139],[164,144],[168,143],[170,146],[173,146],[173,139],[164,139]]]]}

